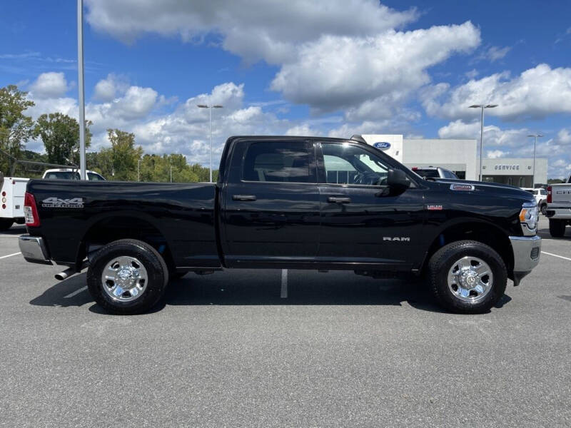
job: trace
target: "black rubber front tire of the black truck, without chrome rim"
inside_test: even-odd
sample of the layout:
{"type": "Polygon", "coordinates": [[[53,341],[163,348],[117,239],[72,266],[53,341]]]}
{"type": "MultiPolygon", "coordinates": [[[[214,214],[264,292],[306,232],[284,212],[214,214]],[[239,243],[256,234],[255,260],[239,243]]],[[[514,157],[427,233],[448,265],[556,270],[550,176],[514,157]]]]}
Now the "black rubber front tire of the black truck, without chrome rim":
{"type": "Polygon", "coordinates": [[[500,255],[490,246],[473,240],[462,240],[445,245],[430,258],[428,281],[436,300],[446,309],[463,314],[478,314],[490,310],[504,295],[507,269],[500,255]],[[448,272],[466,256],[484,261],[492,270],[491,288],[477,302],[461,300],[448,286],[448,272]]]}

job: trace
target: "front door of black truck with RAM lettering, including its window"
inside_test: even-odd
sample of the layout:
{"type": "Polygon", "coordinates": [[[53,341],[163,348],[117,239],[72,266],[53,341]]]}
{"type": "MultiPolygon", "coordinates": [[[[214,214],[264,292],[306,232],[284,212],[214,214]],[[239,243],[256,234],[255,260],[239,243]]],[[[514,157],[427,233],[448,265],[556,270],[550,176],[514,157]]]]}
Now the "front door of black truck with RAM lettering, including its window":
{"type": "MultiPolygon", "coordinates": [[[[388,159],[377,149],[350,142],[318,145],[323,262],[410,270],[420,264],[423,190],[393,193],[388,159]]],[[[371,267],[371,268],[373,268],[371,267]]]]}

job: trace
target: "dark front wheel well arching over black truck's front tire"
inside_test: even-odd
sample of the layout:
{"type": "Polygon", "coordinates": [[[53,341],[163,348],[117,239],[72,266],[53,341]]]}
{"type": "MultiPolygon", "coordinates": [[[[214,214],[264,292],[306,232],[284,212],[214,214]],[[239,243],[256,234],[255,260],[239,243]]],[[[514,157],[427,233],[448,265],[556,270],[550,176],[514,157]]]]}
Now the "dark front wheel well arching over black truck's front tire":
{"type": "Polygon", "coordinates": [[[485,223],[461,223],[443,230],[430,245],[423,267],[428,265],[428,260],[440,248],[458,240],[474,240],[489,245],[500,255],[507,267],[507,272],[513,269],[514,260],[510,238],[507,238],[500,228],[485,223]]]}

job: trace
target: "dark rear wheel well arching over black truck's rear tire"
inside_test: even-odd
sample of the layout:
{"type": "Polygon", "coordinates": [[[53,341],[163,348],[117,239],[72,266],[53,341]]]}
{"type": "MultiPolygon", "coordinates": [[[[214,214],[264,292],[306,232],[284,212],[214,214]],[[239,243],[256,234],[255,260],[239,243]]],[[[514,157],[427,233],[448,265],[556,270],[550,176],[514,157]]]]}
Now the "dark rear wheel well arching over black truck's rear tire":
{"type": "Polygon", "coordinates": [[[98,248],[120,239],[136,239],[148,243],[163,256],[169,269],[175,267],[168,242],[161,231],[146,220],[132,217],[104,218],[92,225],[81,240],[76,263],[81,265],[98,248]]]}

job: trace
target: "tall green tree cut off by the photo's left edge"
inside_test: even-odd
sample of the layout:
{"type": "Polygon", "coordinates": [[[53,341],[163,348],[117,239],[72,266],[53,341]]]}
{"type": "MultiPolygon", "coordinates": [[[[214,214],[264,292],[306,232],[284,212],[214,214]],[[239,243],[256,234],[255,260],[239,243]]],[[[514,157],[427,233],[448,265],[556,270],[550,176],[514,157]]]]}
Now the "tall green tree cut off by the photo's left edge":
{"type": "MultiPolygon", "coordinates": [[[[27,92],[19,91],[16,85],[0,88],[0,150],[19,158],[24,143],[32,136],[34,121],[24,111],[34,106],[26,98],[27,92]]],[[[0,170],[9,173],[11,161],[0,156],[0,170]]]]}

